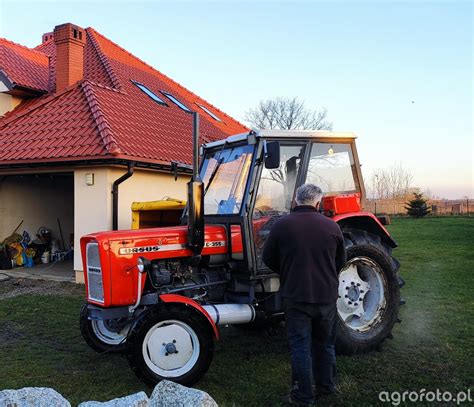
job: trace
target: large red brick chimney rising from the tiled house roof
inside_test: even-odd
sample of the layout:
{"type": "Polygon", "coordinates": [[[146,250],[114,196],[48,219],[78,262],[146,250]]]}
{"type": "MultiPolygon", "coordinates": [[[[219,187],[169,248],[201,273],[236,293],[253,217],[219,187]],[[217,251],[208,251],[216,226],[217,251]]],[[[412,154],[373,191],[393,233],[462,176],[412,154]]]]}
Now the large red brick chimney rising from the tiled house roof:
{"type": "Polygon", "coordinates": [[[54,27],[56,44],[56,91],[59,92],[84,78],[83,28],[67,23],[54,27]]]}

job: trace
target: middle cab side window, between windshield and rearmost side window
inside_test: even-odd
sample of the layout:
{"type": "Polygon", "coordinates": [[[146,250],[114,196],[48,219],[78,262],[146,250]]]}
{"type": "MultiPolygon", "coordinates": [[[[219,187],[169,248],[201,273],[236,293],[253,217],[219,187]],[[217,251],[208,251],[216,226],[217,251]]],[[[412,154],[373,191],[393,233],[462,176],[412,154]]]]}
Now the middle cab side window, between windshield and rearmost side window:
{"type": "Polygon", "coordinates": [[[301,145],[281,145],[279,168],[262,168],[253,213],[258,269],[266,268],[261,255],[271,227],[277,219],[290,213],[303,152],[301,145]]]}

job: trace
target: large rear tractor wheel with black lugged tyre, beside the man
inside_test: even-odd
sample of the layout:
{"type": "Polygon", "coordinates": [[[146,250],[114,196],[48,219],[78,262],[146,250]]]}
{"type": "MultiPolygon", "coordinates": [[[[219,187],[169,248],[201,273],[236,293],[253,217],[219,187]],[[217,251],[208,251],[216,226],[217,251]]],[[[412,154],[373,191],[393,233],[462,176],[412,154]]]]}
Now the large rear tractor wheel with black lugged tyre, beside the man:
{"type": "Polygon", "coordinates": [[[364,353],[391,338],[398,321],[400,286],[398,261],[379,236],[345,229],[347,263],[339,272],[336,349],[364,353]]]}

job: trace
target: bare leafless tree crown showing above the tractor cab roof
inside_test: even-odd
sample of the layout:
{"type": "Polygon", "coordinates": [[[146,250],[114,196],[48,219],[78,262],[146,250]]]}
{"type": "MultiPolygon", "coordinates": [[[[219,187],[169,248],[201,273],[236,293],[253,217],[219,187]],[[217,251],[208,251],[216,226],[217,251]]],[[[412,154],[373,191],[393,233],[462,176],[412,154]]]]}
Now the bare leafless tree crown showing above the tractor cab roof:
{"type": "Polygon", "coordinates": [[[261,100],[245,113],[245,120],[258,129],[332,130],[326,116],[327,109],[307,109],[303,100],[294,97],[261,100]]]}

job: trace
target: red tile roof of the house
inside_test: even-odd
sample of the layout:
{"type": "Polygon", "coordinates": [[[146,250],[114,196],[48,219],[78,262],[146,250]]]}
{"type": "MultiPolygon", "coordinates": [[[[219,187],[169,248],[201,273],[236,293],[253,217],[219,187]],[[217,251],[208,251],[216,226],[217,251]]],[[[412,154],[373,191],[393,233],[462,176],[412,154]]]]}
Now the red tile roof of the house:
{"type": "MultiPolygon", "coordinates": [[[[189,164],[192,161],[192,117],[161,91],[171,93],[191,110],[199,111],[202,142],[248,130],[94,29],[87,28],[86,33],[84,80],[61,92],[50,92],[22,104],[0,119],[0,166],[97,158],[189,164]],[[167,106],[153,101],[132,80],[144,84],[166,101],[167,106]],[[205,106],[222,122],[214,120],[196,103],[205,106]]],[[[12,43],[0,40],[0,50],[12,48],[8,44],[12,43]]],[[[13,48],[21,50],[16,64],[5,65],[0,59],[0,69],[10,78],[29,78],[30,86],[55,88],[56,48],[52,40],[34,50],[16,44],[13,48]],[[38,63],[34,65],[37,70],[33,70],[33,74],[28,71],[31,67],[28,61],[44,62],[48,57],[51,57],[50,66],[38,63]]]]}

